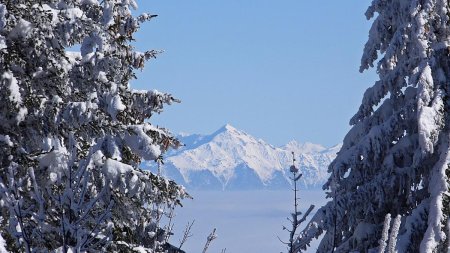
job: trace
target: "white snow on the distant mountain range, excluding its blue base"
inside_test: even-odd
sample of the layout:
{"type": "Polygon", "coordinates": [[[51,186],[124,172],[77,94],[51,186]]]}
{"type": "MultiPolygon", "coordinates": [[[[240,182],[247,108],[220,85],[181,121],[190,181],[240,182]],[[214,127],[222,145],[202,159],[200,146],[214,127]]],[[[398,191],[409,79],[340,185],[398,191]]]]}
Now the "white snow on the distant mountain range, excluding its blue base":
{"type": "Polygon", "coordinates": [[[340,148],[339,145],[328,150],[321,145],[295,141],[277,148],[228,124],[212,135],[185,136],[184,139],[190,143],[169,156],[167,164],[179,169],[186,182],[196,183],[191,182],[191,172],[208,170],[223,186],[238,176],[235,170],[242,165],[253,170],[263,184],[269,183],[275,172],[282,173],[287,179],[285,171],[292,164],[291,152],[295,152],[297,166],[310,170],[311,175],[301,179],[304,184],[321,185],[328,177],[327,166],[340,148]]]}

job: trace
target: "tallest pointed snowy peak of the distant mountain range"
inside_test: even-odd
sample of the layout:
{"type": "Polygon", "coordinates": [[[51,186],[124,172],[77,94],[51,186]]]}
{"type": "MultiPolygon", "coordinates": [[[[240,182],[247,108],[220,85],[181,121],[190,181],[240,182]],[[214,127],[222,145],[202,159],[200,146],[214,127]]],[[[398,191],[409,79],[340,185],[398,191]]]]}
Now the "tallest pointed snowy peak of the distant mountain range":
{"type": "Polygon", "coordinates": [[[167,159],[180,170],[185,180],[190,171],[207,169],[226,184],[237,166],[246,166],[267,181],[273,170],[282,169],[273,146],[229,124],[204,139],[208,141],[193,149],[186,146],[179,155],[167,159]]]}

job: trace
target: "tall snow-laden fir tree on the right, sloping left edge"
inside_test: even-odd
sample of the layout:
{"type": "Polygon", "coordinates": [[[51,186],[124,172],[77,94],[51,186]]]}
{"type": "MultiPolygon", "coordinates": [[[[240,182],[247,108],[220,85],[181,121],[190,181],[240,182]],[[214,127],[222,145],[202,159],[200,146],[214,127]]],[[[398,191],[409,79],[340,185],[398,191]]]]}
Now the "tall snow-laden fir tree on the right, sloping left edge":
{"type": "Polygon", "coordinates": [[[449,9],[443,0],[368,8],[361,71],[378,61],[379,81],[350,121],[324,185],[331,200],[298,250],[324,233],[318,252],[449,252],[449,9]],[[384,225],[387,215],[397,218],[384,225]]]}

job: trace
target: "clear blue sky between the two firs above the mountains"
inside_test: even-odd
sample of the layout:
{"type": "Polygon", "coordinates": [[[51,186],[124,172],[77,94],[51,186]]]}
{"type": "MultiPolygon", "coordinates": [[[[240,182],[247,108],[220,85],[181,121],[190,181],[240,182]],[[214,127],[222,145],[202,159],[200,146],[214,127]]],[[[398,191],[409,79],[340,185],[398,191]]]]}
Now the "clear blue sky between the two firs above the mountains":
{"type": "Polygon", "coordinates": [[[133,88],[172,93],[181,104],[151,122],[208,134],[226,123],[274,145],[342,141],[374,71],[358,72],[370,1],[151,0],[158,14],[136,36],[165,50],[133,88]]]}

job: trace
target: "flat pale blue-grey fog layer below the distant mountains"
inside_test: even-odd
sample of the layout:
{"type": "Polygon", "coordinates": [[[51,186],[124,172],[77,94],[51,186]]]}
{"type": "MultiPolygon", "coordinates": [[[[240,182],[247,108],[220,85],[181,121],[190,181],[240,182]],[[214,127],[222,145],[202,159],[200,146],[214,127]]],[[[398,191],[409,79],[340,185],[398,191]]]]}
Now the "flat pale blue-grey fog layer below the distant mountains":
{"type": "MultiPolygon", "coordinates": [[[[179,245],[179,237],[187,222],[195,219],[194,234],[183,249],[186,252],[201,252],[207,235],[217,228],[218,238],[211,244],[209,252],[286,252],[277,239],[287,240],[288,233],[282,230],[288,225],[286,217],[292,210],[290,191],[195,191],[190,192],[194,200],[185,200],[175,217],[175,235],[171,239],[179,245]]],[[[325,195],[320,190],[301,191],[302,211],[310,204],[321,206],[325,195]]],[[[308,252],[315,252],[318,242],[308,252]]]]}

